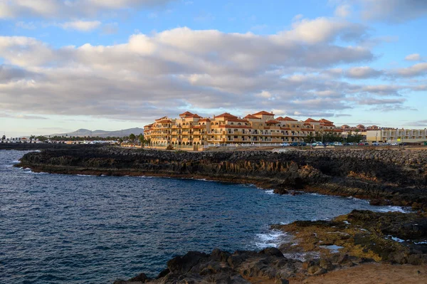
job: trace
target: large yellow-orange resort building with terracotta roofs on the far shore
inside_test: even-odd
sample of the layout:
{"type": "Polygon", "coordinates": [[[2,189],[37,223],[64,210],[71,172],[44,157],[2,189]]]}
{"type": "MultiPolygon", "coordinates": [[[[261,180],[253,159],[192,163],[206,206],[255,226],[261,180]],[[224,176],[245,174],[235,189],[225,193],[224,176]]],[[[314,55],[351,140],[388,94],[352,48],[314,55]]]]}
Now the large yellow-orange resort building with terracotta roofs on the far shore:
{"type": "Polygon", "coordinates": [[[179,118],[161,117],[144,126],[144,136],[152,147],[165,149],[201,150],[208,144],[267,144],[304,142],[308,135],[317,132],[333,132],[341,135],[329,120],[298,121],[291,117],[275,117],[261,111],[245,117],[228,112],[214,117],[201,117],[184,112],[179,118]]]}

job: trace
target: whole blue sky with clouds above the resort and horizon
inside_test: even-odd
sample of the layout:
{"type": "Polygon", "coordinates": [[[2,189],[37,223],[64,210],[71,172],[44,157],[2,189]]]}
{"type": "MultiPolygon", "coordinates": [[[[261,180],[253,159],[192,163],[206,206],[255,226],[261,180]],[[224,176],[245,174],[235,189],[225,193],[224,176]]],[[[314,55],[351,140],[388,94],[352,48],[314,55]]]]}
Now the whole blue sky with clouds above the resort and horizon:
{"type": "Polygon", "coordinates": [[[0,132],[189,110],[427,127],[427,1],[0,0],[0,132]]]}

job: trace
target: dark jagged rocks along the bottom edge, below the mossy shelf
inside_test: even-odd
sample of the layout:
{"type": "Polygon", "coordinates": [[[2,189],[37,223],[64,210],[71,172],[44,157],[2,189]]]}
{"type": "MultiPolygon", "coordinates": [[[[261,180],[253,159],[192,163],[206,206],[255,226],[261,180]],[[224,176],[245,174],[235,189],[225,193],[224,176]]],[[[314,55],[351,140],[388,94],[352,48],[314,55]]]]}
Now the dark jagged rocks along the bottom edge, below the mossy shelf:
{"type": "MultiPolygon", "coordinates": [[[[331,261],[297,261],[285,258],[278,248],[263,251],[228,253],[215,249],[211,254],[190,251],[167,263],[157,278],[144,273],[130,280],[116,280],[115,284],[137,283],[289,283],[288,278],[320,275],[339,268],[341,259],[331,261]],[[261,281],[261,282],[258,282],[261,281]]],[[[349,258],[345,258],[349,261],[349,258]]]]}

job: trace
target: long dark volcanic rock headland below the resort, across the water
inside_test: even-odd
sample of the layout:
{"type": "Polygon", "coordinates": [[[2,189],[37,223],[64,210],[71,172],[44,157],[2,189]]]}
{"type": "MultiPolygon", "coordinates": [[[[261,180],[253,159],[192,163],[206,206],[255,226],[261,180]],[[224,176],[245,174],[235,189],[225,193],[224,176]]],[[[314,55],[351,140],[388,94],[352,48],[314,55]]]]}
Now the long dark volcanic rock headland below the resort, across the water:
{"type": "Polygon", "coordinates": [[[273,153],[83,147],[28,153],[19,167],[60,174],[151,175],[253,183],[427,209],[427,151],[315,149],[273,153]]]}

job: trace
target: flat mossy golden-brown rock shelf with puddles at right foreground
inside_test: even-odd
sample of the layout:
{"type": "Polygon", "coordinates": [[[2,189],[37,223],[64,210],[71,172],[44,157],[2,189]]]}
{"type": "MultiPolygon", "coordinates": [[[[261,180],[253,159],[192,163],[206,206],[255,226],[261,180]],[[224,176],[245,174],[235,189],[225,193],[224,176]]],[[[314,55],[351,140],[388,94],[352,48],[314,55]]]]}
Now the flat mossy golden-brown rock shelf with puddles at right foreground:
{"type": "Polygon", "coordinates": [[[295,221],[273,228],[295,240],[280,246],[288,253],[317,251],[328,258],[333,251],[376,262],[427,263],[427,214],[354,210],[331,221],[295,221]]]}

